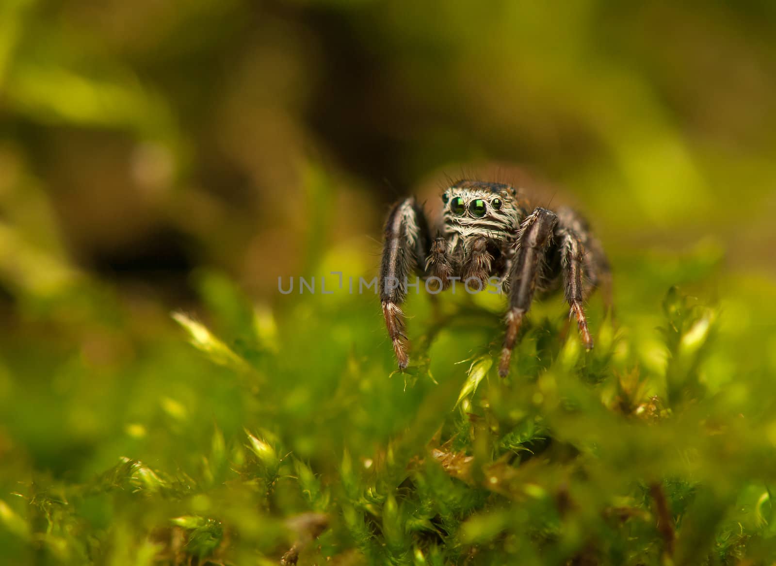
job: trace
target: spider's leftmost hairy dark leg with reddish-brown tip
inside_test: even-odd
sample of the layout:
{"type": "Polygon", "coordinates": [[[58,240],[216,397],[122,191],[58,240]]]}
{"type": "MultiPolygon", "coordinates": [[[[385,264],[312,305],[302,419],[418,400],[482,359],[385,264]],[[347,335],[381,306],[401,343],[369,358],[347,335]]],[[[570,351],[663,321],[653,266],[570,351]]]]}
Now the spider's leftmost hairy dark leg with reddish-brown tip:
{"type": "Polygon", "coordinates": [[[401,201],[391,209],[385,225],[383,259],[380,262],[380,301],[383,317],[399,368],[404,370],[407,356],[407,335],[400,305],[407,297],[407,278],[423,273],[430,237],[428,222],[414,197],[401,201]]]}

